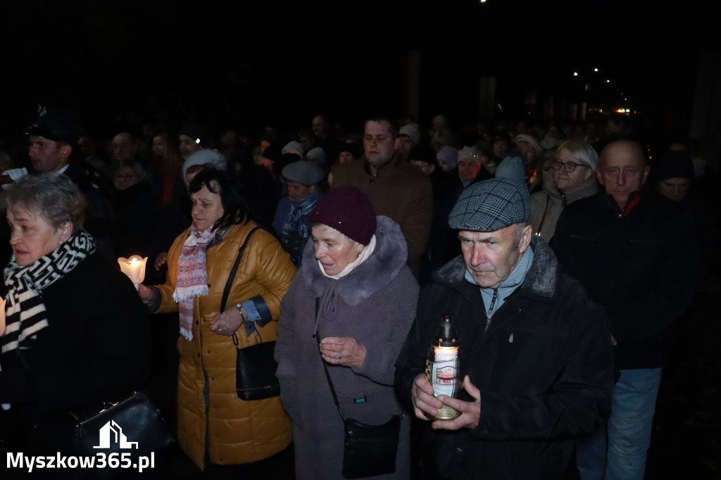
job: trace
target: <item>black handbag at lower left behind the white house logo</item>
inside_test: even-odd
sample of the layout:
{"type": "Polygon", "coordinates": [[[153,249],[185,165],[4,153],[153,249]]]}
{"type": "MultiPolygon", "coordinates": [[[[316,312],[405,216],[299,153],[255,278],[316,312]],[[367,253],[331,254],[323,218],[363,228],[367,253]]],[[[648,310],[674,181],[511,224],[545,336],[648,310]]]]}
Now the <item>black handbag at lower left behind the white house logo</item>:
{"type": "Polygon", "coordinates": [[[147,455],[172,445],[172,432],[157,406],[142,392],[105,404],[101,410],[70,412],[75,420],[74,453],[147,455]]]}

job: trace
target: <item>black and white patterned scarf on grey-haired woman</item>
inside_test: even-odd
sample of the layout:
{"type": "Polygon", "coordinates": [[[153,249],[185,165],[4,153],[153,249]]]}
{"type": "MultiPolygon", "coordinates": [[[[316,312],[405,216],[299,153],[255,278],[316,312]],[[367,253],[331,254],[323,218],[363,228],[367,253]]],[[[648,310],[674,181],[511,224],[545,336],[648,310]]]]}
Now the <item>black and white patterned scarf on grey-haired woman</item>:
{"type": "Polygon", "coordinates": [[[12,256],[3,272],[8,288],[6,330],[0,337],[3,353],[32,345],[37,332],[48,326],[43,289],[60,280],[94,251],[92,236],[81,232],[30,265],[17,265],[12,256]]]}

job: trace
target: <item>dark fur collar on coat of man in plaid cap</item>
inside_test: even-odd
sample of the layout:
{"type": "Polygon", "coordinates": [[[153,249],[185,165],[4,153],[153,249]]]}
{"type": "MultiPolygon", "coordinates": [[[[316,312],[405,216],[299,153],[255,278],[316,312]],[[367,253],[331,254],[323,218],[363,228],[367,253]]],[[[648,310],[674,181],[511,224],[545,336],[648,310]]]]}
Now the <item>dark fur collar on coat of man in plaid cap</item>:
{"type": "MultiPolygon", "coordinates": [[[[521,288],[516,291],[541,301],[551,301],[557,290],[558,260],[551,247],[539,236],[531,236],[531,249],[534,260],[523,278],[521,288]]],[[[465,275],[466,264],[463,255],[459,255],[436,270],[433,280],[455,290],[463,290],[462,286],[471,285],[466,282],[465,275]]]]}

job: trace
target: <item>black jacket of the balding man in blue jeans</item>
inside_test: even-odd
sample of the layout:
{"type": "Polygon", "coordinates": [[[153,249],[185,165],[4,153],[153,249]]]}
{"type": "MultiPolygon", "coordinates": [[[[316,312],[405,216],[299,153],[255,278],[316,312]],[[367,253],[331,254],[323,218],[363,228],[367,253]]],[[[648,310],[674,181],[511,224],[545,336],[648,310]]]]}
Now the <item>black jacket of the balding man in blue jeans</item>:
{"type": "Polygon", "coordinates": [[[551,246],[567,272],[606,307],[616,338],[616,368],[658,368],[668,328],[696,285],[694,223],[654,192],[632,194],[622,213],[599,193],[568,205],[551,246]]]}

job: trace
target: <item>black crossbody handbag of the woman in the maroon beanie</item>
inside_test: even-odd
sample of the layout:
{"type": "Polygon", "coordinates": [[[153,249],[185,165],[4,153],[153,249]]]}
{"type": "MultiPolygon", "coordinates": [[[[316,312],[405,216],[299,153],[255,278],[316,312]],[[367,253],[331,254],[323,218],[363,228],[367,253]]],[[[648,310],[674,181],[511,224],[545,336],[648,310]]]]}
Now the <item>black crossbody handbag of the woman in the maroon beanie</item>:
{"type": "MultiPolygon", "coordinates": [[[[320,299],[316,298],[316,319],[318,318],[320,299]]],[[[320,352],[320,332],[314,335],[318,342],[320,352]]],[[[322,355],[321,355],[322,357],[322,355]]],[[[401,430],[401,417],[393,415],[388,422],[382,425],[368,425],[358,420],[347,418],[340,409],[340,402],[335,393],[333,381],[330,378],[328,367],[321,358],[325,376],[328,380],[330,393],[343,421],[345,436],[343,439],[343,468],[341,474],[344,479],[361,479],[367,476],[392,474],[396,471],[396,455],[401,430]]]]}

